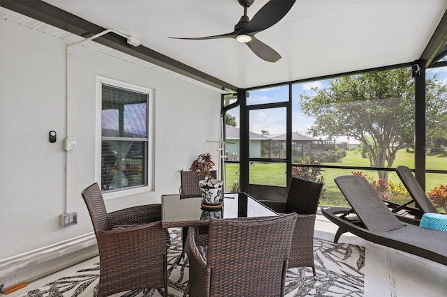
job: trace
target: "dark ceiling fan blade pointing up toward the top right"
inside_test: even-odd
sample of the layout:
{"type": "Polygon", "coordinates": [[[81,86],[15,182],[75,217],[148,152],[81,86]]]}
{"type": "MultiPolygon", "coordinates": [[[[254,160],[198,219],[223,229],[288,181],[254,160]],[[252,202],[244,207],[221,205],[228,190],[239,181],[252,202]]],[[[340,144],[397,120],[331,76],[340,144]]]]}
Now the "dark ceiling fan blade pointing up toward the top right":
{"type": "Polygon", "coordinates": [[[289,10],[291,10],[296,0],[270,0],[258,10],[256,15],[251,18],[249,24],[240,32],[252,33],[259,32],[270,28],[277,22],[279,22],[289,10]]]}

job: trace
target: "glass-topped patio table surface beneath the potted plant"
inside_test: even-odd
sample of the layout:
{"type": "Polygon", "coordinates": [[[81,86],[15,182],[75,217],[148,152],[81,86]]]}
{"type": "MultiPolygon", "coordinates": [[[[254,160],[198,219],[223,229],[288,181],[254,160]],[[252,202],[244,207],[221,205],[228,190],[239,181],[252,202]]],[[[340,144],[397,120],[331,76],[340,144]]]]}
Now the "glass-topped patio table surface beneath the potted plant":
{"type": "Polygon", "coordinates": [[[204,208],[202,197],[161,196],[163,228],[207,225],[211,218],[263,218],[279,215],[244,192],[224,194],[221,208],[204,208]]]}

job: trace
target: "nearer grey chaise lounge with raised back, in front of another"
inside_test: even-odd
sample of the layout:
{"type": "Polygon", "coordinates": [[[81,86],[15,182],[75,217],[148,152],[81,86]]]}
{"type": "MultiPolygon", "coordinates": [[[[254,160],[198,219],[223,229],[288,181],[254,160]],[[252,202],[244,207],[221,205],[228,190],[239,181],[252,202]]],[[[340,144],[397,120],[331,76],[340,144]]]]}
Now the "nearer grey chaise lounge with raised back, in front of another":
{"type": "Polygon", "coordinates": [[[367,241],[447,265],[447,232],[400,222],[363,176],[339,176],[335,183],[360,223],[348,220],[340,207],[321,209],[325,218],[367,241]]]}

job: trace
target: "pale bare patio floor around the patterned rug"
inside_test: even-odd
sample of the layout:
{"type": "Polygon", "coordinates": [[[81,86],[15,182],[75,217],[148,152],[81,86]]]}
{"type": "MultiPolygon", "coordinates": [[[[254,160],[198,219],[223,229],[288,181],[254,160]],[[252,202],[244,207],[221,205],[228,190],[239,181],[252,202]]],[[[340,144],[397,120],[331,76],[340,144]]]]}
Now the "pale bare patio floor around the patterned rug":
{"type": "MultiPolygon", "coordinates": [[[[337,225],[329,222],[323,215],[317,215],[315,236],[332,241],[335,231],[337,231],[337,225]]],[[[365,296],[447,296],[447,266],[405,252],[384,248],[349,233],[342,235],[339,242],[354,243],[367,247],[365,296]]],[[[94,264],[96,261],[98,261],[98,257],[35,280],[29,283],[27,287],[11,294],[2,295],[7,297],[19,296],[31,289],[41,287],[51,280],[56,280],[85,266],[94,264]]]]}

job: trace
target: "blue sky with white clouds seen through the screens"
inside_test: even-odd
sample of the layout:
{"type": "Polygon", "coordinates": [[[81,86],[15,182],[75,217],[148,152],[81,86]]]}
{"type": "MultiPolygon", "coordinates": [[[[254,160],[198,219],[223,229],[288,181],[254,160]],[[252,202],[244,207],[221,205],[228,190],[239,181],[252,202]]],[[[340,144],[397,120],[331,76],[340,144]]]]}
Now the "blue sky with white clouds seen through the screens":
{"type": "MultiPolygon", "coordinates": [[[[442,84],[447,84],[447,67],[434,68],[427,70],[427,77],[430,77],[433,73],[439,73],[439,81],[442,84]]],[[[309,128],[314,123],[314,118],[305,116],[302,113],[299,105],[300,95],[306,94],[308,96],[315,96],[318,93],[318,89],[323,89],[328,84],[328,79],[319,80],[314,82],[305,82],[301,84],[293,84],[292,97],[293,97],[293,110],[292,110],[292,130],[303,135],[309,135],[309,128]],[[317,91],[313,91],[312,88],[317,88],[317,91]]],[[[271,102],[284,102],[288,100],[288,86],[274,86],[268,89],[258,89],[249,91],[249,98],[247,98],[247,105],[264,104],[271,102]]],[[[235,116],[236,122],[239,123],[239,108],[233,109],[229,112],[232,116],[235,116]]],[[[256,109],[251,110],[249,114],[250,131],[261,134],[263,130],[267,130],[270,135],[286,132],[286,108],[276,109],[256,109]]],[[[239,125],[237,125],[239,127],[239,125]]],[[[346,142],[347,136],[343,135],[337,137],[337,142],[346,142]]],[[[323,138],[324,135],[318,135],[316,139],[323,138]]],[[[349,138],[350,143],[356,143],[356,139],[349,138]]],[[[357,142],[358,143],[358,142],[357,142]]]]}

